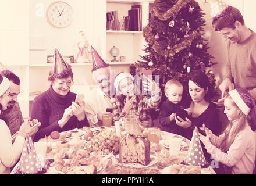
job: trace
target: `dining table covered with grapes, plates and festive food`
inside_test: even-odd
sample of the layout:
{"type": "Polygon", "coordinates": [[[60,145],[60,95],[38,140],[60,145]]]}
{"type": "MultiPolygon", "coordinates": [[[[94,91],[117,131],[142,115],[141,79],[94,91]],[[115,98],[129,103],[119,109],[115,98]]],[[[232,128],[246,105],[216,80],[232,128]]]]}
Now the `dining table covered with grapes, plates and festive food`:
{"type": "MultiPolygon", "coordinates": [[[[141,128],[142,130],[142,134],[147,137],[149,128],[141,128]]],[[[118,135],[115,126],[75,128],[59,134],[58,139],[48,136],[39,140],[39,142],[47,142],[44,156],[47,169],[44,174],[84,174],[81,171],[74,172],[70,170],[73,170],[73,167],[88,165],[95,166],[96,171],[94,173],[96,174],[172,174],[166,170],[172,168],[172,166],[180,167],[180,169],[187,166],[184,161],[189,150],[190,140],[166,131],[160,131],[159,142],[150,141],[150,163],[147,165],[120,163],[118,143],[127,134],[123,131],[121,135],[118,135]],[[87,138],[85,134],[88,133],[88,130],[90,130],[91,137],[87,138]],[[107,141],[105,144],[102,142],[104,139],[100,137],[104,137],[104,135],[105,138],[109,138],[110,143],[108,140],[105,140],[107,141]],[[167,139],[170,137],[182,140],[178,155],[173,156],[169,153],[167,139]],[[61,168],[56,166],[57,159],[62,159],[65,162],[61,168]]],[[[17,167],[19,167],[19,162],[13,168],[11,174],[15,173],[17,167]]],[[[191,174],[216,174],[211,166],[203,167],[200,170],[200,172],[191,174]]],[[[188,174],[188,172],[179,171],[179,174],[188,174]]]]}

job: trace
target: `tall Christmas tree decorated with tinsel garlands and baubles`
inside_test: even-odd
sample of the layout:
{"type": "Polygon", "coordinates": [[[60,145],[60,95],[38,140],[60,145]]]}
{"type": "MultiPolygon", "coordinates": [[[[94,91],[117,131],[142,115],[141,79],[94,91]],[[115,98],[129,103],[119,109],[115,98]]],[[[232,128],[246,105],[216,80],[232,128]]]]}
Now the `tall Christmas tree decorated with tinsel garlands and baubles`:
{"type": "MultiPolygon", "coordinates": [[[[204,40],[205,13],[195,0],[155,0],[154,17],[144,27],[146,55],[140,56],[139,67],[151,69],[160,76],[161,84],[176,78],[185,84],[189,73],[214,65],[204,40]]],[[[214,74],[207,72],[215,87],[214,74]]],[[[216,89],[215,89],[216,90],[216,89]]]]}

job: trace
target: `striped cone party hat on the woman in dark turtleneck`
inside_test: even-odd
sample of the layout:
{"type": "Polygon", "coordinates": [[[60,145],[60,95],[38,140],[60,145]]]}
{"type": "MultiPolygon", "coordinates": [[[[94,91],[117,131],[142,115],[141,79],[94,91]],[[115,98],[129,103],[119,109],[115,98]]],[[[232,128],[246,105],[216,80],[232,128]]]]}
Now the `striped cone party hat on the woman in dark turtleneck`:
{"type": "Polygon", "coordinates": [[[62,58],[61,53],[55,48],[54,52],[54,64],[50,71],[51,76],[54,78],[63,78],[72,71],[71,66],[65,62],[62,58]]]}

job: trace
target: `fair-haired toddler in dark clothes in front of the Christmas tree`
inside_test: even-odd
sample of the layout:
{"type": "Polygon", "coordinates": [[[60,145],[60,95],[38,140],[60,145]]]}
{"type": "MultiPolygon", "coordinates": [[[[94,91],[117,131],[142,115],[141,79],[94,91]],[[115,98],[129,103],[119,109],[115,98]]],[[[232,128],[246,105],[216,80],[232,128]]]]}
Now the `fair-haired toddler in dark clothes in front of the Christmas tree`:
{"type": "Polygon", "coordinates": [[[169,80],[165,84],[165,96],[168,98],[160,108],[159,122],[161,130],[186,137],[184,129],[177,126],[175,116],[184,113],[180,101],[182,101],[183,85],[175,80],[169,80]]]}

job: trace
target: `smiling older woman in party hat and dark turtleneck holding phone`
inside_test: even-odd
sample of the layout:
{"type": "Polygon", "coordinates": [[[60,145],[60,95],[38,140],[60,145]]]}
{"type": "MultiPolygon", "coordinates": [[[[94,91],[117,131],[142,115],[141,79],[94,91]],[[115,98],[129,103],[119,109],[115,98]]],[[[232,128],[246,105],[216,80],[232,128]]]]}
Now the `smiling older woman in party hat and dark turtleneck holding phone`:
{"type": "Polygon", "coordinates": [[[34,140],[44,138],[52,131],[67,131],[89,126],[84,113],[84,102],[75,102],[76,94],[70,92],[73,84],[73,73],[55,49],[55,63],[49,73],[50,88],[38,95],[33,102],[31,119],[38,119],[41,126],[34,140]]]}

